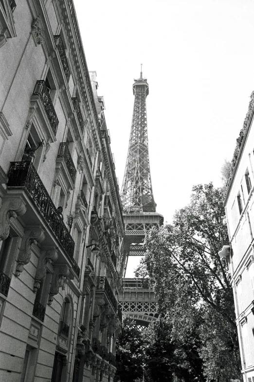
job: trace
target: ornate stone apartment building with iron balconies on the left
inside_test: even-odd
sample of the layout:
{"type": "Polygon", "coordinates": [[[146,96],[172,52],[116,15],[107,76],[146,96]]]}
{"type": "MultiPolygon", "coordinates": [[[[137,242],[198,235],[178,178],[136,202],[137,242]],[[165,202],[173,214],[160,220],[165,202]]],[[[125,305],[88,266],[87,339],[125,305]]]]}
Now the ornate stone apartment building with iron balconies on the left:
{"type": "Polygon", "coordinates": [[[73,0],[0,0],[0,382],[110,382],[124,223],[73,0]]]}

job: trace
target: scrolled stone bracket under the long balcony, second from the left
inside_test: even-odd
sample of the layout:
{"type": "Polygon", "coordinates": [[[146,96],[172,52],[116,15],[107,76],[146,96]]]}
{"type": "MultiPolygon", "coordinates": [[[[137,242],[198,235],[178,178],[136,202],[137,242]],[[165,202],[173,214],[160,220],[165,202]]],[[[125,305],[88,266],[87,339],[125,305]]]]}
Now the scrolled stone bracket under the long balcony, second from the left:
{"type": "Polygon", "coordinates": [[[21,248],[18,253],[18,264],[16,267],[15,276],[19,276],[23,272],[24,265],[28,264],[31,259],[31,247],[32,244],[42,242],[45,239],[44,231],[41,228],[35,228],[25,231],[23,236],[21,248]]]}

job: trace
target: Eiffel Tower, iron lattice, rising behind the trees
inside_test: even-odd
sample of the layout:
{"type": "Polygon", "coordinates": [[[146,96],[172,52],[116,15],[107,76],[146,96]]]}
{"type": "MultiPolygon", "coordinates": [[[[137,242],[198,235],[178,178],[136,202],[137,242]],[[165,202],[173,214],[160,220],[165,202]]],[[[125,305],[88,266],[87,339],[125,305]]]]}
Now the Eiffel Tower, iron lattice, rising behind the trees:
{"type": "Polygon", "coordinates": [[[120,297],[123,314],[133,318],[137,326],[145,327],[156,320],[156,298],[147,280],[125,279],[129,256],[144,256],[143,241],[148,231],[163,224],[163,215],[156,212],[148,153],[146,97],[147,80],[140,78],[133,84],[134,107],[130,130],[127,162],[121,190],[125,222],[125,251],[121,274],[124,274],[120,297]]]}

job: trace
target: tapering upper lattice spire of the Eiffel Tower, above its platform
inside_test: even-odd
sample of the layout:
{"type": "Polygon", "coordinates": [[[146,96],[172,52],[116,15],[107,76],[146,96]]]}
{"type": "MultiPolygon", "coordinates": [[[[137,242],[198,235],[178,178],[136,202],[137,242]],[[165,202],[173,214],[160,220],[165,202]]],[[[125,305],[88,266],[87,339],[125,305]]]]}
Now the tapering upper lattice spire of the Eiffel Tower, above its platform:
{"type": "Polygon", "coordinates": [[[142,77],[142,72],[140,78],[134,81],[133,94],[135,99],[121,199],[124,212],[155,212],[156,204],[153,198],[148,154],[145,101],[149,87],[147,80],[142,77]]]}

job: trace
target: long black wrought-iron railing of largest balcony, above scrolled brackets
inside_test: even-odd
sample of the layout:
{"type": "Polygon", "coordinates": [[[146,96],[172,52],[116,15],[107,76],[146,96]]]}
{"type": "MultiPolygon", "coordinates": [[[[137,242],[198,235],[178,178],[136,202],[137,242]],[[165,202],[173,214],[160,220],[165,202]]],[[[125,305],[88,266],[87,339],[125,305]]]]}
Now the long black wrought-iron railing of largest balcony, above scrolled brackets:
{"type": "Polygon", "coordinates": [[[32,162],[11,162],[8,187],[25,187],[37,208],[61,243],[68,258],[73,263],[75,243],[64,222],[56,211],[48,191],[40,180],[32,162]]]}

